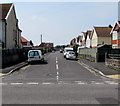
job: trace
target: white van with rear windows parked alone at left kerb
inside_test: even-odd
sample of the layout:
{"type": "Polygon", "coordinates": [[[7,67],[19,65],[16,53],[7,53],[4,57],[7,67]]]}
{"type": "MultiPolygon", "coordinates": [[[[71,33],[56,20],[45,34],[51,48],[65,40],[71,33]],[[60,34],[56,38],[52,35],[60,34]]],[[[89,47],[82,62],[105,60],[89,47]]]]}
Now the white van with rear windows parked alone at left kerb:
{"type": "Polygon", "coordinates": [[[28,62],[44,61],[41,50],[29,50],[28,62]]]}

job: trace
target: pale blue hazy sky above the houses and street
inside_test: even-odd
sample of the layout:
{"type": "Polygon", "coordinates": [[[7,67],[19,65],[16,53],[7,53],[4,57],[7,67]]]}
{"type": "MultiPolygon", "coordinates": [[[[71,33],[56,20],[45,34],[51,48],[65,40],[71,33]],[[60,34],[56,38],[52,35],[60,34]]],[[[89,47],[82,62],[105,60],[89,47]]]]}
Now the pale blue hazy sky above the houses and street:
{"type": "Polygon", "coordinates": [[[69,44],[93,26],[114,25],[118,20],[117,2],[15,2],[22,36],[34,45],[53,42],[69,44]]]}

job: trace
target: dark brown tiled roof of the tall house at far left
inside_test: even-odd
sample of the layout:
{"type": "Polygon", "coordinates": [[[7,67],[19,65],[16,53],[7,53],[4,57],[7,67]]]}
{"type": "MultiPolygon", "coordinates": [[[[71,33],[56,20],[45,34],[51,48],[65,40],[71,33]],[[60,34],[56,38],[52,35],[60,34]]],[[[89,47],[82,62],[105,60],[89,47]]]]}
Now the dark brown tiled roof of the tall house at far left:
{"type": "Polygon", "coordinates": [[[11,6],[12,6],[12,3],[0,4],[0,10],[2,10],[0,12],[0,19],[5,19],[6,18],[11,6]]]}

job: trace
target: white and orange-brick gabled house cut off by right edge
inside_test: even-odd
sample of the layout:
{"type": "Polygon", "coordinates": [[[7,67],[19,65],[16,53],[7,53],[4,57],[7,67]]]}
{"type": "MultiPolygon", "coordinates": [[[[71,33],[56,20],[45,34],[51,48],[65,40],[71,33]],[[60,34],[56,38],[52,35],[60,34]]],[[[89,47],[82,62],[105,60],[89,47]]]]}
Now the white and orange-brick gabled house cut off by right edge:
{"type": "Polygon", "coordinates": [[[120,48],[120,21],[117,21],[111,30],[112,48],[120,48]]]}

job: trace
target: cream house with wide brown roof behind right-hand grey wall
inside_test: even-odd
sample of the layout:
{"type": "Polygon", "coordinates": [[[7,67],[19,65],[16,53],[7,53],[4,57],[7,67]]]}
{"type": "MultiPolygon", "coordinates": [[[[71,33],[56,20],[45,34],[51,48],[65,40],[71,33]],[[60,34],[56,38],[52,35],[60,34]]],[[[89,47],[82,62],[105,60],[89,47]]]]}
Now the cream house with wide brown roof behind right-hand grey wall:
{"type": "Polygon", "coordinates": [[[93,27],[91,32],[91,47],[111,45],[111,27],[93,27]]]}

